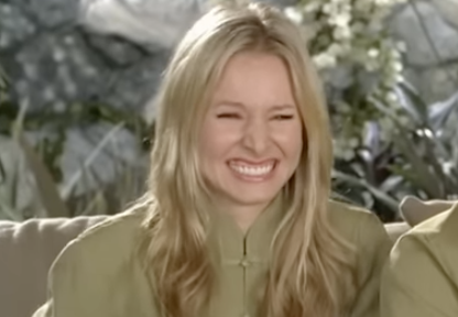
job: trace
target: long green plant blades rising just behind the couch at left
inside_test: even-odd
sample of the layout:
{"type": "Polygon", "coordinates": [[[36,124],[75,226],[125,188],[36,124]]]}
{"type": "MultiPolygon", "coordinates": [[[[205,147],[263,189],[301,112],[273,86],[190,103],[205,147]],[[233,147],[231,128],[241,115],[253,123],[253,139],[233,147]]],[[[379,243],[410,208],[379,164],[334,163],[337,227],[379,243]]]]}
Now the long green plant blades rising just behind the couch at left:
{"type": "MultiPolygon", "coordinates": [[[[117,132],[123,128],[123,122],[115,125],[105,138],[97,144],[94,151],[87,156],[81,167],[73,175],[66,184],[54,179],[48,166],[31,145],[30,141],[19,127],[13,133],[12,141],[24,156],[25,166],[15,164],[13,168],[6,171],[2,167],[2,186],[0,190],[0,218],[23,220],[30,217],[74,217],[78,215],[100,215],[116,214],[122,210],[129,201],[138,197],[143,192],[142,184],[145,181],[144,170],[140,167],[127,166],[119,161],[116,167],[116,179],[112,184],[105,184],[97,179],[97,173],[92,168],[92,163],[98,155],[117,138],[117,132]],[[31,174],[36,201],[32,201],[31,208],[34,210],[20,210],[18,204],[18,193],[21,190],[19,179],[24,177],[24,173],[31,174]],[[97,189],[86,192],[83,195],[76,194],[76,186],[88,179],[95,179],[97,189]]],[[[118,149],[120,151],[121,149],[118,149]]],[[[116,155],[116,154],[113,154],[116,155]]],[[[144,160],[145,157],[139,157],[144,160]]],[[[0,166],[2,166],[0,161],[0,166]]]]}

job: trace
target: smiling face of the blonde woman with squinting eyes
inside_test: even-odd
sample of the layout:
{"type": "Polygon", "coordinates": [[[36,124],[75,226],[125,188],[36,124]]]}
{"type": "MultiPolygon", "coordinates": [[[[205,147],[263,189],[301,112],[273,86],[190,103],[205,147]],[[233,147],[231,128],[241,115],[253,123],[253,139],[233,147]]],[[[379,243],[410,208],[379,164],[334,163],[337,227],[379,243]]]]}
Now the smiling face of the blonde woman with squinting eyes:
{"type": "Polygon", "coordinates": [[[199,138],[203,176],[218,206],[259,211],[291,178],[303,150],[295,103],[277,56],[249,52],[228,62],[199,138]]]}

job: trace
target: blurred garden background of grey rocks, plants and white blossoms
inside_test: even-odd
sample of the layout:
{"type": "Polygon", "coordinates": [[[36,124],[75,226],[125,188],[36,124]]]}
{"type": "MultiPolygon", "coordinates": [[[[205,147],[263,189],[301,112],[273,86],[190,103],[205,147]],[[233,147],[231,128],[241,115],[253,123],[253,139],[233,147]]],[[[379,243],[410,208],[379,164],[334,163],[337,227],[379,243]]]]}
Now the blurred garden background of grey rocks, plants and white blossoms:
{"type": "MultiPolygon", "coordinates": [[[[266,0],[265,0],[266,1],[266,0]]],[[[325,81],[335,195],[399,220],[458,197],[458,0],[271,0],[325,81]]],[[[205,0],[0,1],[0,219],[122,211],[154,96],[205,0]]]]}

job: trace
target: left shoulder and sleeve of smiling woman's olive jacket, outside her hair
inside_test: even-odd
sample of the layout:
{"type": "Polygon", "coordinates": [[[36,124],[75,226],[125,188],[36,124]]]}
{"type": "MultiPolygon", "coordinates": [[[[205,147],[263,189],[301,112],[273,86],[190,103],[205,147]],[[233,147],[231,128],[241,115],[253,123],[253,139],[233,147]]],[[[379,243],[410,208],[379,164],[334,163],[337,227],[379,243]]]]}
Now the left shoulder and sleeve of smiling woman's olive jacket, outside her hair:
{"type": "Polygon", "coordinates": [[[68,243],[48,272],[48,300],[34,316],[128,316],[137,304],[145,309],[151,294],[138,292],[150,285],[138,250],[143,215],[111,216],[68,243]]]}

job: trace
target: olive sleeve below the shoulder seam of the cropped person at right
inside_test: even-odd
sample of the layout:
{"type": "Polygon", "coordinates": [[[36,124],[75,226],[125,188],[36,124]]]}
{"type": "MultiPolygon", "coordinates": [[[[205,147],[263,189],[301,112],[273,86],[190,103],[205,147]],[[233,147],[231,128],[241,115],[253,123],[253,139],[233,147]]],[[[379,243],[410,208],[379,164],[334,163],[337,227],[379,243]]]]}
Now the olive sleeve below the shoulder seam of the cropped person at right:
{"type": "Polygon", "coordinates": [[[458,316],[457,288],[427,237],[402,237],[382,275],[381,317],[458,316]]]}

